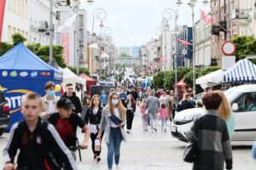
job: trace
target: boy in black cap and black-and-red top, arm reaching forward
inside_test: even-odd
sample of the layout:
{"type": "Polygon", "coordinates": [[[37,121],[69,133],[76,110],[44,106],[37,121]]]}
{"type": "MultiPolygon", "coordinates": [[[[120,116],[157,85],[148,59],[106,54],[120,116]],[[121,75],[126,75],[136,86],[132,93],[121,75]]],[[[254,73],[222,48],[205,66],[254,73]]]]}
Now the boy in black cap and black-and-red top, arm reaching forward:
{"type": "Polygon", "coordinates": [[[76,160],[76,150],[78,150],[77,127],[82,128],[84,133],[84,141],[81,144],[82,150],[88,148],[90,129],[78,114],[73,113],[72,107],[73,104],[70,99],[60,99],[57,102],[58,112],[51,115],[48,121],[55,126],[61,139],[67,145],[67,148],[72,151],[73,157],[76,160]]]}

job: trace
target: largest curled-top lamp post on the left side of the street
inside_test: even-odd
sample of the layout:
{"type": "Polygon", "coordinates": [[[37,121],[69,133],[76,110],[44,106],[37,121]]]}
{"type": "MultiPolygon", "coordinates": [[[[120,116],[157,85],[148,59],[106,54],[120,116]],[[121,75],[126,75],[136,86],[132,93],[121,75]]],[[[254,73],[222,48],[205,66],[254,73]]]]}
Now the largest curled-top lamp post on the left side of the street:
{"type": "MultiPolygon", "coordinates": [[[[92,19],[92,27],[91,27],[91,41],[90,41],[90,45],[92,45],[94,43],[94,39],[93,37],[96,36],[94,33],[94,23],[95,23],[95,18],[97,18],[98,20],[101,20],[101,25],[100,27],[103,26],[102,20],[105,20],[107,18],[107,12],[105,9],[103,8],[96,8],[95,11],[93,12],[93,19],[92,19]]],[[[90,69],[90,73],[92,73],[92,61],[93,61],[93,57],[92,57],[93,53],[92,53],[92,48],[90,49],[90,59],[89,59],[89,69],[90,69]]]]}

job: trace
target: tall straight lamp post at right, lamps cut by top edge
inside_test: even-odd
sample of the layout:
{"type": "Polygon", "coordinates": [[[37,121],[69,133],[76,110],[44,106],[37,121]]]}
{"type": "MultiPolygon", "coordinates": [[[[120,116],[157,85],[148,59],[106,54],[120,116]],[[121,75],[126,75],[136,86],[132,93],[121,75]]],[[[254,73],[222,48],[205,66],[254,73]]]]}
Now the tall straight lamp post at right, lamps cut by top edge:
{"type": "MultiPolygon", "coordinates": [[[[182,0],[177,0],[177,5],[181,5],[183,2],[182,0]]],[[[196,3],[196,0],[189,0],[189,7],[191,7],[192,9],[192,37],[193,37],[193,50],[192,50],[192,53],[193,53],[193,94],[195,94],[195,3],[196,3]]],[[[209,3],[208,0],[204,0],[202,3],[206,4],[209,3]]]]}

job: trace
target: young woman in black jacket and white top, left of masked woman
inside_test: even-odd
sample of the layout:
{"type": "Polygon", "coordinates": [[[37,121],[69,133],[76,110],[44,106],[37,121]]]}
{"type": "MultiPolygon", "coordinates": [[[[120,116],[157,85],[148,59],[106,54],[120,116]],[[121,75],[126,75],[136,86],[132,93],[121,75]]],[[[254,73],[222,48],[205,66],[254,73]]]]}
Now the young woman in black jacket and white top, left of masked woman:
{"type": "MultiPolygon", "coordinates": [[[[89,125],[90,128],[90,139],[91,139],[91,149],[93,151],[93,159],[97,162],[101,161],[101,151],[102,151],[102,139],[96,139],[99,131],[99,126],[102,120],[102,101],[99,95],[94,95],[91,98],[89,109],[84,117],[84,122],[89,125]],[[96,143],[99,142],[100,146],[96,143]]],[[[103,135],[104,131],[102,131],[103,135]]]]}

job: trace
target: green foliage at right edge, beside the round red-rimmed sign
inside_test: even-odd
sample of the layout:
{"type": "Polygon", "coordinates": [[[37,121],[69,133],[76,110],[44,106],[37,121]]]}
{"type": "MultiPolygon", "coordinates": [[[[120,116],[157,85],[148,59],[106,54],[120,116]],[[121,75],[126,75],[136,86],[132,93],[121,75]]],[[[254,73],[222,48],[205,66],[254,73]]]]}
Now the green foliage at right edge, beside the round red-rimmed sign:
{"type": "Polygon", "coordinates": [[[236,61],[256,54],[256,39],[253,36],[234,36],[232,41],[236,44],[236,61]]]}

